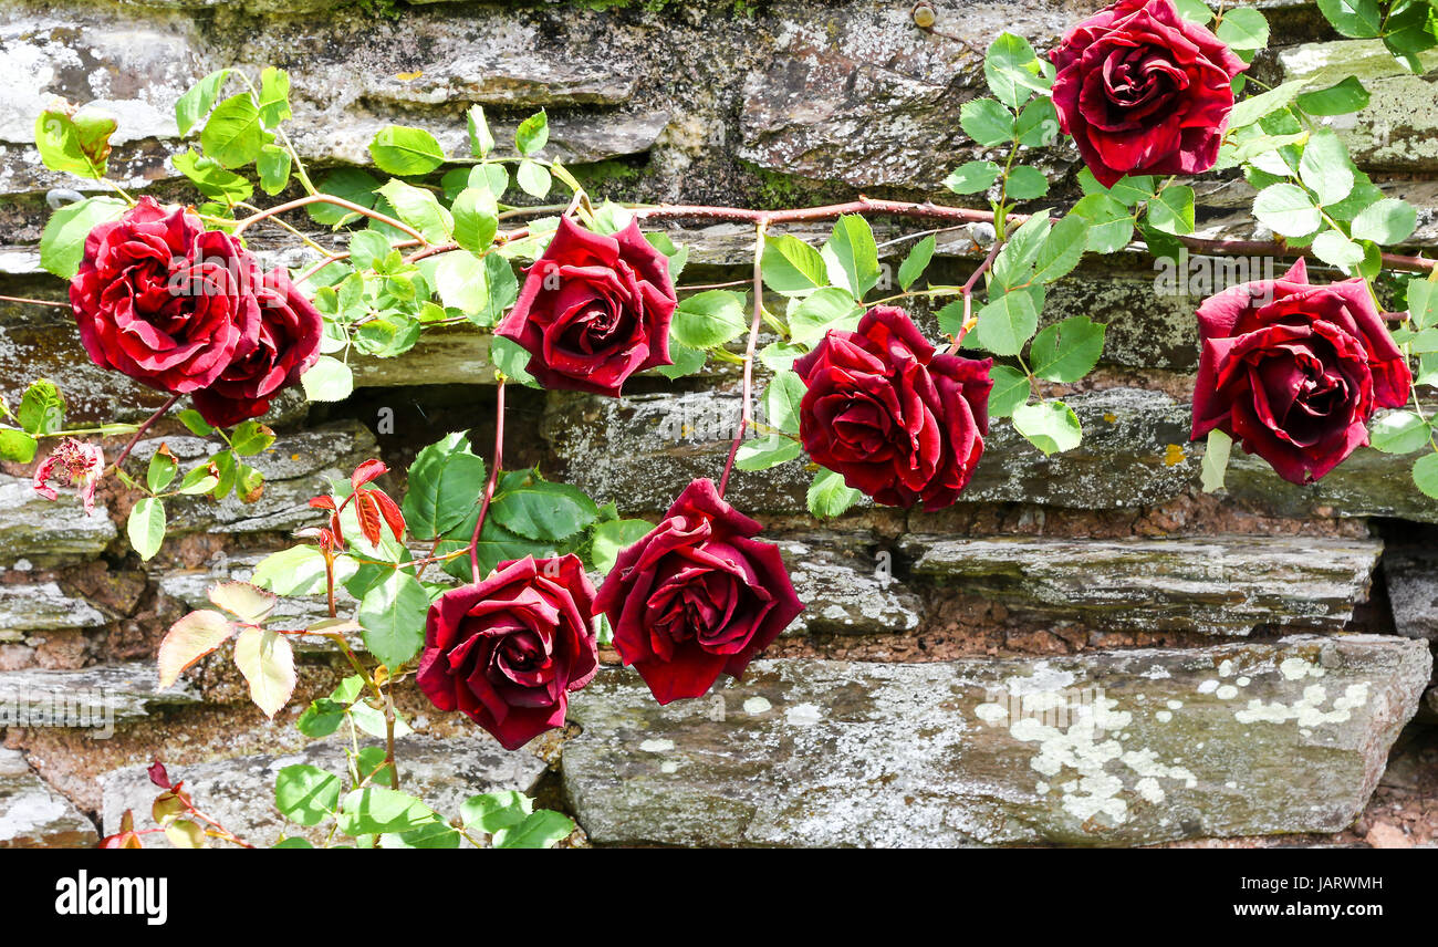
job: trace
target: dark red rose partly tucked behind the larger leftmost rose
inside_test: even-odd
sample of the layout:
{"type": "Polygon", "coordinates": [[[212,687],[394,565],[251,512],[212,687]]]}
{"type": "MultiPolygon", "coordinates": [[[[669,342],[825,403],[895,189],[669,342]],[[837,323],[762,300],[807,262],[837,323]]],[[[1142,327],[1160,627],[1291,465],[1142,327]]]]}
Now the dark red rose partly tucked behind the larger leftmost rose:
{"type": "Polygon", "coordinates": [[[299,381],[319,358],[324,317],[283,269],[265,273],[253,286],[260,307],[259,337],[209,387],[194,393],[194,406],[216,427],[259,417],[280,389],[299,381]]]}

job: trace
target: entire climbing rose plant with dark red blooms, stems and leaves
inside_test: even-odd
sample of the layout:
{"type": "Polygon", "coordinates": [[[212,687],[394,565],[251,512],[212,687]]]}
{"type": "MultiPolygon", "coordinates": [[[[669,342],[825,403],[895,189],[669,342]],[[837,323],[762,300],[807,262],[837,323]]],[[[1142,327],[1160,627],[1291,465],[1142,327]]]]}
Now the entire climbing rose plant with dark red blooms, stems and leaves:
{"type": "MultiPolygon", "coordinates": [[[[1426,3],[1319,7],[1340,33],[1382,40],[1415,72],[1416,53],[1438,45],[1426,3]]],[[[943,36],[926,4],[915,23],[943,36]]],[[[439,813],[401,792],[395,741],[408,727],[395,689],[413,678],[436,710],[464,714],[515,750],[564,727],[601,648],[613,646],[661,704],[742,675],[804,606],[778,547],[728,492],[732,472],[807,455],[810,509],[831,518],[864,498],[952,505],[988,462],[995,423],[1011,423],[1044,455],[1074,449],[1083,429],[1061,393],[1097,366],[1104,325],[1084,315],[1040,322],[1048,286],[1086,253],[1132,249],[1172,262],[1257,246],[1294,260],[1283,278],[1224,288],[1195,314],[1192,436],[1208,442],[1205,489],[1222,488],[1234,440],[1297,484],[1372,443],[1416,453],[1414,481],[1438,498],[1438,440],[1418,400],[1419,387],[1438,383],[1438,271],[1383,250],[1409,239],[1416,213],[1385,197],[1330,127],[1368,105],[1363,83],[1264,86],[1247,69],[1267,40],[1258,10],[1215,13],[1198,0],[1120,0],[1047,56],[1001,35],[984,60],[992,96],[961,109],[986,157],[943,181],[986,207],[864,197],[781,210],[595,203],[544,157],[545,112],[521,122],[502,150],[479,107],[466,117],[463,157],[423,128],[390,125],[370,144],[383,177],[345,168],[316,183],[285,134],[289,76],[273,68],[257,76],[221,69],[180,98],[180,134],[197,137],[198,150],[171,163],[200,200],[167,207],[105,180],[114,118],[56,104],[36,122],[40,158],[111,193],[60,207],[42,262],[69,281],[95,364],[168,397],[139,425],[66,429],[63,394],[37,380],[17,409],[0,402],[0,456],[30,463],[53,439],[35,488],[50,499],[75,489],[86,512],[114,474],[137,495],[127,531],[150,558],[165,538],[167,502],[260,497],[263,474],[250,458],[275,432],[259,419],[285,389],[342,400],[357,355],[401,355],[437,327],[490,331],[496,436],[487,461],[467,432],[454,432],[420,450],[400,502],[381,485],[390,471],[378,459],[334,481],[311,499],[315,522],[298,544],[263,560],[250,583],[217,583],[214,607],[170,629],[160,678],[170,685],[229,649],[255,704],[273,717],[295,689],[290,642],[328,639],[354,674],[296,725],[312,738],[348,733],[347,767],[282,770],[275,803],[289,820],[326,845],[554,845],[572,823],[521,793],[439,813]],[[1060,134],[1086,167],[1083,197],[1055,212],[1043,201],[1050,178],[1031,160],[1060,134]],[[1194,187],[1175,176],[1234,170],[1257,190],[1252,212],[1276,235],[1271,243],[1194,233],[1194,187]],[[262,207],[256,186],[299,196],[262,207]],[[561,203],[546,204],[557,187],[567,191],[561,203]],[[1021,213],[1021,204],[1038,209],[1021,213]],[[298,212],[347,235],[348,248],[303,237],[283,220],[298,212]],[[879,262],[870,217],[926,227],[887,240],[909,246],[896,276],[879,262]],[[664,220],[752,225],[748,292],[680,284],[687,249],[643,229],[664,220]],[[782,232],[818,220],[833,222],[818,248],[782,232]],[[296,236],[313,262],[266,271],[246,242],[262,225],[296,236]],[[962,285],[923,279],[940,232],[982,255],[962,285]],[[1314,281],[1310,265],[1337,276],[1314,281]],[[1385,312],[1383,299],[1401,301],[1398,311],[1385,312]],[[930,304],[932,321],[907,311],[930,304]],[[742,367],[739,425],[718,481],[693,481],[657,524],[624,518],[539,471],[505,466],[508,386],[620,397],[636,373],[699,376],[710,361],[742,367]],[[756,364],[771,376],[758,399],[756,364]],[[162,440],[144,436],[184,397],[193,407],[178,420],[214,443],[181,471],[162,440]],[[1379,407],[1392,410],[1375,414],[1379,407]],[[106,465],[98,440],[125,436],[106,465]],[[137,452],[148,459],[129,472],[137,452]],[[341,593],[358,603],[352,615],[341,615],[341,593]],[[319,597],[329,617],[283,627],[276,615],[286,596],[319,597]],[[360,733],[384,743],[361,747],[360,733]]],[[[164,764],[151,767],[151,780],[155,828],[139,829],[127,813],[105,848],[139,848],[151,832],[181,846],[252,845],[206,815],[164,764]]],[[[312,842],[296,832],[278,845],[312,842]]]]}

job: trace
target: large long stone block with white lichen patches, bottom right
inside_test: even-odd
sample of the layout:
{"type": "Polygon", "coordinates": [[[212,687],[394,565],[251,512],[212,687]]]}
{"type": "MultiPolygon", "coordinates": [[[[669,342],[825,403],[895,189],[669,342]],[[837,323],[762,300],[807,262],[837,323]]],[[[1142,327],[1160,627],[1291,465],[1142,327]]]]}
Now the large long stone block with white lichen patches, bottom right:
{"type": "Polygon", "coordinates": [[[1421,642],[1053,661],[758,662],[656,707],[605,672],[564,781],[597,845],[1132,845],[1336,832],[1426,684],[1421,642]]]}

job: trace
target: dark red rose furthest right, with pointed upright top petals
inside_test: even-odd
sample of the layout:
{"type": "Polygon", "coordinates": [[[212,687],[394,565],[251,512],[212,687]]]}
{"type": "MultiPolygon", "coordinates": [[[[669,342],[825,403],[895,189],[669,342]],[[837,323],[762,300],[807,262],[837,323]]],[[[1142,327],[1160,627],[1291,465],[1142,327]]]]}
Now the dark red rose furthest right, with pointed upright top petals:
{"type": "Polygon", "coordinates": [[[1217,427],[1286,481],[1319,479],[1368,443],[1375,407],[1408,402],[1408,361],[1362,279],[1313,286],[1300,259],[1206,299],[1198,331],[1194,439],[1217,427]]]}

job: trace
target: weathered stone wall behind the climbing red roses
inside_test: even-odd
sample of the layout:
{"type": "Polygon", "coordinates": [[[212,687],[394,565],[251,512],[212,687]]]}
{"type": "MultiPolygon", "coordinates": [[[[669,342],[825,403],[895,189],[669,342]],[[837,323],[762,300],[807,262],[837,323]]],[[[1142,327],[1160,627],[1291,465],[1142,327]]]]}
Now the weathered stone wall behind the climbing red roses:
{"type": "MultiPolygon", "coordinates": [[[[39,164],[39,108],[56,95],[101,101],[121,118],[111,167],[122,183],[187,196],[167,164],[181,150],[174,99],[230,65],[290,71],[293,137],[321,170],[365,164],[374,131],[395,121],[426,125],[457,153],[463,109],[477,102],[498,131],[545,107],[554,153],[614,199],[952,201],[940,178],[976,155],[958,128],[959,105],[982,88],[975,47],[1008,29],[1045,49],[1099,3],[933,6],[968,43],[916,30],[903,0],[0,0],[0,294],[63,298],[36,242],[46,191],[83,183],[39,164]]],[[[1311,3],[1260,6],[1283,45],[1255,75],[1359,71],[1373,104],[1342,131],[1376,183],[1419,206],[1414,249],[1438,242],[1432,76],[1401,73],[1376,43],[1337,40],[1311,3]]],[[[1076,196],[1074,161],[1063,150],[1047,161],[1048,203],[1076,196]]],[[[1241,178],[1199,191],[1202,236],[1251,236],[1241,178]]],[[[253,236],[273,248],[275,233],[253,236]]],[[[684,282],[745,275],[742,227],[673,236],[693,246],[684,282]]],[[[930,278],[962,281],[971,250],[946,235],[930,278]]],[[[1414,724],[1403,735],[1411,758],[1426,761],[1419,776],[1383,771],[1415,714],[1438,720],[1428,689],[1438,504],[1412,488],[1402,459],[1366,449],[1306,488],[1237,458],[1227,494],[1199,492],[1202,445],[1186,439],[1198,298],[1158,296],[1153,279],[1150,260],[1116,253],[1050,296],[1045,318],[1081,312],[1110,327],[1104,364],[1070,397],[1086,430],[1073,453],[1044,458],[999,426],[952,509],[864,507],[828,524],[805,514],[798,462],[736,474],[735,495],[782,541],[808,602],[746,681],[659,708],[634,675],[608,666],[564,734],[515,754],[406,692],[417,731],[401,747],[407,779],[440,799],[535,792],[597,845],[1336,833],[1379,786],[1382,812],[1393,800],[1426,812],[1408,829],[1431,839],[1432,731],[1414,724]]],[[[243,577],[282,548],[326,475],[377,455],[403,469],[446,430],[470,429],[486,453],[485,348],[450,331],[400,360],[361,363],[345,403],[283,400],[269,419],[280,438],[257,463],[260,502],[177,507],[180,535],[147,564],[116,528],[122,495],[85,517],[70,499],[37,498],[27,468],[3,468],[0,705],[63,697],[99,725],[7,718],[0,846],[112,832],[127,806],[145,809],[134,767],[154,754],[232,829],[278,830],[273,771],[335,750],[305,748],[289,711],[266,722],[223,661],[157,694],[155,645],[209,577],[243,577]]],[[[89,366],[65,309],[0,302],[0,394],[13,403],[36,376],[59,381],[82,420],[157,404],[89,366]]],[[[506,455],[651,517],[692,476],[719,471],[726,445],[713,432],[736,404],[729,368],[676,384],[647,377],[623,402],[521,390],[506,455]]],[[[204,449],[183,435],[162,427],[138,455],[161,440],[175,453],[204,449]]],[[[334,652],[303,652],[296,698],[339,674],[334,652]]],[[[1375,812],[1342,838],[1395,819],[1375,812]]]]}

